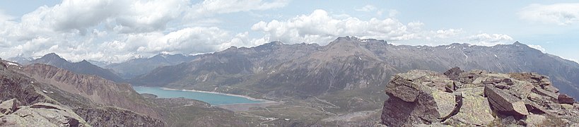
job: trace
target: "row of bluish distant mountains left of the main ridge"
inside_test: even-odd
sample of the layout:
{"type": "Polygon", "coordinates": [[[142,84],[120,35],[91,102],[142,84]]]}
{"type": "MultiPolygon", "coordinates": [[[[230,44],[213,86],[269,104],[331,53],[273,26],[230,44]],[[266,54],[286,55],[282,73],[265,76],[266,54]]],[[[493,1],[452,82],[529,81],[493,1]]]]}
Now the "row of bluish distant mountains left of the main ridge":
{"type": "Polygon", "coordinates": [[[58,68],[65,68],[69,71],[82,74],[98,75],[107,80],[125,83],[127,79],[137,75],[143,75],[159,66],[172,66],[194,59],[194,56],[183,54],[157,54],[149,58],[129,59],[122,63],[109,63],[105,61],[83,60],[70,62],[61,56],[50,53],[38,59],[16,56],[8,60],[22,65],[31,63],[44,63],[58,68]]]}

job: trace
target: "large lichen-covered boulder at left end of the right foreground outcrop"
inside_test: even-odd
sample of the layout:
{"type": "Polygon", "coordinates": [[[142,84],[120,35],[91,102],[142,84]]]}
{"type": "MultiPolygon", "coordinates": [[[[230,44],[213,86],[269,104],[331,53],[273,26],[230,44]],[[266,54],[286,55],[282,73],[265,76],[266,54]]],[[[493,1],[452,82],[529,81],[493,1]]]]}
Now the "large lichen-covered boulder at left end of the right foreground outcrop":
{"type": "Polygon", "coordinates": [[[456,97],[439,87],[452,86],[452,80],[432,71],[411,71],[395,75],[387,85],[390,95],[382,110],[382,123],[411,126],[440,123],[455,110],[456,97]]]}

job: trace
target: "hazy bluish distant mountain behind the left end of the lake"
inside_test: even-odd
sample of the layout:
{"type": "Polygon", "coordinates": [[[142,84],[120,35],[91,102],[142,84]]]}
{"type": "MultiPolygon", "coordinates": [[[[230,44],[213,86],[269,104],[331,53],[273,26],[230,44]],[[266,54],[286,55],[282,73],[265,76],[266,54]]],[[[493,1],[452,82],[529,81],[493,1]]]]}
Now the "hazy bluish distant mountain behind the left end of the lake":
{"type": "Polygon", "coordinates": [[[160,66],[173,66],[179,63],[189,62],[194,58],[195,56],[186,56],[183,54],[157,54],[150,58],[131,59],[122,63],[111,63],[104,68],[110,68],[122,78],[130,79],[149,73],[160,66]]]}

